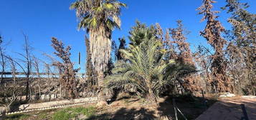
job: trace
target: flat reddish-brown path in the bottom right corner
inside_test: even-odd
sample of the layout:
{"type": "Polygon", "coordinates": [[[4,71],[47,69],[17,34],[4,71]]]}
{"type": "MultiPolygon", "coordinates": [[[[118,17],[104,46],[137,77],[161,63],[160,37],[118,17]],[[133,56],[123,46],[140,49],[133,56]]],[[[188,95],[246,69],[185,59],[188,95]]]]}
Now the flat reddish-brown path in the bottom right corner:
{"type": "Polygon", "coordinates": [[[196,120],[240,120],[243,116],[240,104],[245,104],[249,119],[256,120],[256,99],[242,98],[240,96],[220,99],[196,120]]]}

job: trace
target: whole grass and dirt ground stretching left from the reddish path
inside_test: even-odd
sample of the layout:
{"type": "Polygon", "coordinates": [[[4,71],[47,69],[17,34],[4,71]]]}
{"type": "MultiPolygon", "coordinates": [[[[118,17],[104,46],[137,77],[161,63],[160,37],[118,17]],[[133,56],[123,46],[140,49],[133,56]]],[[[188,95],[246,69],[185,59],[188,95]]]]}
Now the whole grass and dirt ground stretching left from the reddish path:
{"type": "MultiPolygon", "coordinates": [[[[204,104],[202,97],[166,96],[158,99],[157,104],[148,104],[146,99],[124,94],[107,106],[95,108],[95,113],[92,116],[88,116],[85,120],[171,120],[174,119],[173,99],[176,101],[176,106],[186,116],[186,119],[189,120],[196,119],[217,101],[217,99],[209,98],[207,99],[207,104],[204,104]]],[[[95,106],[95,104],[90,104],[90,106],[95,106]]],[[[72,106],[72,108],[75,107],[77,106],[72,106]]],[[[9,120],[47,120],[52,119],[53,114],[62,109],[33,111],[14,114],[8,117],[10,118],[9,120]]],[[[179,120],[184,119],[179,113],[178,118],[179,120]]]]}

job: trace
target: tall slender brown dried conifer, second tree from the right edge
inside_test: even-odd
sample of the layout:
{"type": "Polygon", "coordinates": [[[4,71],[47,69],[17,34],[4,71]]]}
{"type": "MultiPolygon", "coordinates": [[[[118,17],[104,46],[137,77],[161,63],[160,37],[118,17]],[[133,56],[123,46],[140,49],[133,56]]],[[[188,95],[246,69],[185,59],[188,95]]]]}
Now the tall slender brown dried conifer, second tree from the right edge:
{"type": "Polygon", "coordinates": [[[207,39],[208,43],[214,49],[214,55],[212,56],[212,76],[211,82],[215,90],[219,92],[232,91],[232,83],[227,76],[227,63],[224,58],[224,46],[227,41],[222,38],[222,32],[224,27],[217,20],[218,16],[215,14],[219,11],[213,11],[213,5],[216,1],[203,0],[202,6],[198,8],[199,14],[203,14],[202,21],[207,20],[207,25],[204,31],[201,31],[201,36],[207,39]]]}

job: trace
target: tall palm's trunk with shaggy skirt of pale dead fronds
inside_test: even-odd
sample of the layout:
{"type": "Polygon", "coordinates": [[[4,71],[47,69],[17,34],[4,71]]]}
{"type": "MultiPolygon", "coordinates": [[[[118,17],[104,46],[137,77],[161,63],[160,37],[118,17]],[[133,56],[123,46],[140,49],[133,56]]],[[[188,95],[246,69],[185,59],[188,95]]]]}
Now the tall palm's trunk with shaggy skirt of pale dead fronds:
{"type": "Polygon", "coordinates": [[[107,69],[111,51],[111,33],[100,25],[98,29],[90,30],[90,52],[93,69],[98,79],[98,101],[106,101],[103,91],[104,71],[107,69]]]}

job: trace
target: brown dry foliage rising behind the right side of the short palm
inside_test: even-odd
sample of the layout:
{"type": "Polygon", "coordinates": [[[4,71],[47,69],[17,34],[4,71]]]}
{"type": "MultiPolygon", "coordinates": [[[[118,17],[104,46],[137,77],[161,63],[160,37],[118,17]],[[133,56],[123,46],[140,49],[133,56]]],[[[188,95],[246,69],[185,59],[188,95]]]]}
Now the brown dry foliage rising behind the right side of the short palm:
{"type": "MultiPolygon", "coordinates": [[[[181,24],[181,21],[177,21],[177,23],[178,27],[176,29],[166,29],[165,34],[161,26],[156,24],[156,35],[163,43],[162,49],[166,49],[166,51],[169,52],[169,56],[167,56],[169,59],[176,59],[176,61],[184,64],[195,65],[189,43],[186,42],[186,33],[183,24],[181,24]]],[[[174,84],[175,86],[178,84],[181,85],[185,91],[194,92],[200,89],[198,80],[199,76],[190,74],[189,76],[179,79],[178,82],[174,84]]]]}

